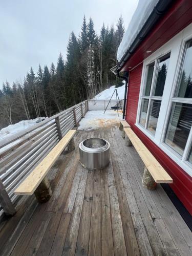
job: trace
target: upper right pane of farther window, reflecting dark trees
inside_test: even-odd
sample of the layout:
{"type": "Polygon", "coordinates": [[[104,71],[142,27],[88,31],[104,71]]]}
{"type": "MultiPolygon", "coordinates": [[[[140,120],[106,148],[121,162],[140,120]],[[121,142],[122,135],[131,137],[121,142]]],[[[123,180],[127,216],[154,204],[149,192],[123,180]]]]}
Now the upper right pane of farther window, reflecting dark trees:
{"type": "Polygon", "coordinates": [[[170,53],[166,54],[165,56],[160,58],[158,61],[157,78],[156,78],[155,93],[154,93],[155,96],[163,95],[169,58],[170,58],[170,53]]]}

